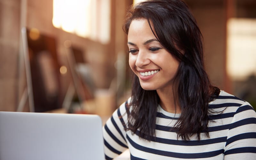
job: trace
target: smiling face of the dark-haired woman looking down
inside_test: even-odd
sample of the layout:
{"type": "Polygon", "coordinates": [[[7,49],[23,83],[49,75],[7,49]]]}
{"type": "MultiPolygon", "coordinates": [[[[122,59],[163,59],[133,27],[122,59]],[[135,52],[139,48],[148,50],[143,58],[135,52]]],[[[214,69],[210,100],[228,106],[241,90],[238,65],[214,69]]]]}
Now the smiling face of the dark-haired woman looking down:
{"type": "Polygon", "coordinates": [[[144,90],[172,88],[179,61],[158,42],[148,20],[132,20],[128,32],[128,48],[129,65],[139,77],[144,90]]]}

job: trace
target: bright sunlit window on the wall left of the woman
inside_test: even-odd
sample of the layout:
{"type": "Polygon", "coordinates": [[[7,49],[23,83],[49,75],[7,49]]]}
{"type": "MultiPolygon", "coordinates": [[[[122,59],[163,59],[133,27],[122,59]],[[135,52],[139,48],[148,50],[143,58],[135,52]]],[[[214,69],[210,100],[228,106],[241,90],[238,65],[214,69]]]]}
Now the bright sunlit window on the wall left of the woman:
{"type": "Polygon", "coordinates": [[[107,44],[110,0],[53,0],[52,24],[66,32],[107,44]]]}

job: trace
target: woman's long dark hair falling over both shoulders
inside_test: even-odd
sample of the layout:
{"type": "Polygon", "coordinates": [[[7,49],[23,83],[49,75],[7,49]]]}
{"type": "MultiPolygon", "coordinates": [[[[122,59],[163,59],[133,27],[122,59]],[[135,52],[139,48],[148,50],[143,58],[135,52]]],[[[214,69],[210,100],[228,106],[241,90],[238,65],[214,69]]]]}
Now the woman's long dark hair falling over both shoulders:
{"type": "MultiPolygon", "coordinates": [[[[196,134],[200,139],[201,132],[209,136],[208,103],[218,97],[220,89],[210,84],[204,70],[202,34],[188,6],[181,0],[151,0],[131,6],[123,25],[126,34],[131,21],[139,18],[148,20],[158,41],[180,62],[175,76],[178,87],[172,89],[181,109],[174,127],[178,137],[189,140],[196,134]]],[[[138,77],[133,75],[128,110],[132,109],[127,111],[126,130],[139,132],[141,138],[152,140],[159,102],[157,92],[142,89],[138,77]]]]}

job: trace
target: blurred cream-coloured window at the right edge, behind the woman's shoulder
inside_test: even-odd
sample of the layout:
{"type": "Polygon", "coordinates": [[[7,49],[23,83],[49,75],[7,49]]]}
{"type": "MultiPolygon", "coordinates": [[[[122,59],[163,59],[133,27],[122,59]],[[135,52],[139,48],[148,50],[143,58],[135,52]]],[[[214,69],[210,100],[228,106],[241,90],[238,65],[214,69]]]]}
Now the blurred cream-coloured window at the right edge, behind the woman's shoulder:
{"type": "Polygon", "coordinates": [[[231,18],[227,24],[227,71],[232,79],[256,75],[256,19],[231,18]]]}

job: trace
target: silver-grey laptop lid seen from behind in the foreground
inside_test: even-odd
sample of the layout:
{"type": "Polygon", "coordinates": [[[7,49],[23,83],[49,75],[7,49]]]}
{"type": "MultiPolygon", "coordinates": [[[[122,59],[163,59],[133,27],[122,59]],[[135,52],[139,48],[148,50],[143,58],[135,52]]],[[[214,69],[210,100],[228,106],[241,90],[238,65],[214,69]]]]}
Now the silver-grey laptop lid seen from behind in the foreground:
{"type": "Polygon", "coordinates": [[[98,115],[0,112],[0,160],[104,159],[98,115]]]}

